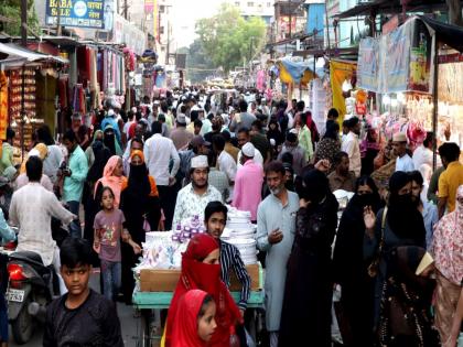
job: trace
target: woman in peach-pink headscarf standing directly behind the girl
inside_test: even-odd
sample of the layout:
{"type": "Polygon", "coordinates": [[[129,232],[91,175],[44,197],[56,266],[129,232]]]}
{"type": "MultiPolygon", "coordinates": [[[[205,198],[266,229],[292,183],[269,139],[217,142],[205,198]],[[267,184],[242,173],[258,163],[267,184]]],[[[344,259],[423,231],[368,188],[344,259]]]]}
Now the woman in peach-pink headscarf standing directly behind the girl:
{"type": "Polygon", "coordinates": [[[115,207],[119,208],[120,192],[122,191],[122,185],[127,184],[127,178],[122,174],[122,159],[118,155],[112,155],[106,163],[103,177],[95,185],[94,197],[97,198],[99,196],[103,187],[110,187],[115,194],[115,207]]]}

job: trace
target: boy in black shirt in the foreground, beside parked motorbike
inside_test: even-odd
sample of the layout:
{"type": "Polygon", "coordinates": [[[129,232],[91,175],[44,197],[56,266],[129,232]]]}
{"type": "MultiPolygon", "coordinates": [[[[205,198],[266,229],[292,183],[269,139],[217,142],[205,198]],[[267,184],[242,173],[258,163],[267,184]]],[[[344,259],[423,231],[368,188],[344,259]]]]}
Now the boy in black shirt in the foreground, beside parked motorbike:
{"type": "Polygon", "coordinates": [[[46,310],[42,346],[123,347],[116,306],[88,286],[90,243],[68,237],[61,246],[60,258],[68,292],[46,310]]]}

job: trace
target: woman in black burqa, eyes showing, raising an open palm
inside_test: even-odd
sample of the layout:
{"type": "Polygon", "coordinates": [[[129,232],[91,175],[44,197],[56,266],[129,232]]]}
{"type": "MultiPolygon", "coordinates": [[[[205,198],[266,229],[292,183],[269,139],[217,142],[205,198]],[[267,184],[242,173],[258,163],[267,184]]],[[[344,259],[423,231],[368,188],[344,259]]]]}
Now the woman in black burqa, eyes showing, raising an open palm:
{"type": "MultiPolygon", "coordinates": [[[[369,176],[357,178],[355,195],[341,217],[333,254],[334,282],[341,286],[341,307],[346,327],[344,346],[373,346],[374,281],[367,273],[364,259],[364,210],[377,214],[381,199],[375,182],[369,176]]],[[[342,329],[343,332],[343,329],[342,329]]]]}

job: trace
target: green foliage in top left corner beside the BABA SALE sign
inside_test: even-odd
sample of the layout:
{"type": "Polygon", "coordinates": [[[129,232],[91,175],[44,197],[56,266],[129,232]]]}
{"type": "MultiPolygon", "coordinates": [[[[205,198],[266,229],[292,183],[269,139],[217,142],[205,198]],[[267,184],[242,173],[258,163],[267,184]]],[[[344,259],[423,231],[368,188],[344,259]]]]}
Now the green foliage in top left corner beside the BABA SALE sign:
{"type": "MultiPolygon", "coordinates": [[[[0,0],[0,15],[12,20],[12,22],[2,23],[3,31],[11,36],[19,36],[21,34],[21,0],[0,0]]],[[[28,0],[28,26],[39,32],[34,0],[28,0]]]]}

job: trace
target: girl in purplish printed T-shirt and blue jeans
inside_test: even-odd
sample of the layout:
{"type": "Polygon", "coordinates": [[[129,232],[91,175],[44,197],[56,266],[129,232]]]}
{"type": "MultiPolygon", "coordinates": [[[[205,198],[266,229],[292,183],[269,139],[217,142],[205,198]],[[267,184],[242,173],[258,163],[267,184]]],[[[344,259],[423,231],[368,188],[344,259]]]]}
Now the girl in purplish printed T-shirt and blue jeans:
{"type": "Polygon", "coordinates": [[[123,228],[126,218],[120,209],[115,208],[115,194],[110,187],[101,191],[101,207],[94,221],[94,249],[101,261],[104,295],[115,301],[121,285],[120,239],[129,243],[136,254],[141,252],[141,248],[123,228]]]}

